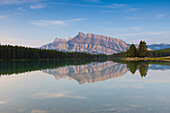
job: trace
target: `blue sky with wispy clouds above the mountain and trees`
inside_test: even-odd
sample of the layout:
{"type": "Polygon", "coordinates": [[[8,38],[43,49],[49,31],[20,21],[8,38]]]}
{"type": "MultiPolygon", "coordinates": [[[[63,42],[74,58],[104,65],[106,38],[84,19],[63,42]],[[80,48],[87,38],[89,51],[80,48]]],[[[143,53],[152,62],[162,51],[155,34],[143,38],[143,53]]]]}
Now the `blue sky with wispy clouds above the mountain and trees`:
{"type": "Polygon", "coordinates": [[[40,47],[78,32],[170,44],[170,0],[0,0],[0,43],[40,47]]]}

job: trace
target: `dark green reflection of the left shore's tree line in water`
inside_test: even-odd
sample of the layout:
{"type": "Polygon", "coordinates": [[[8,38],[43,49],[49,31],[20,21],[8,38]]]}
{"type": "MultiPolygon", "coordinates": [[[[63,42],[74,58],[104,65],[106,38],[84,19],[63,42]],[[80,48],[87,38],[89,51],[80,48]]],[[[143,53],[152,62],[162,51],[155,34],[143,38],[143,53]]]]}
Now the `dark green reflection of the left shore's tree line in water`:
{"type": "Polygon", "coordinates": [[[27,61],[1,61],[0,76],[31,72],[42,69],[54,69],[68,65],[85,65],[91,62],[105,62],[97,59],[63,59],[63,60],[27,60],[27,61]]]}

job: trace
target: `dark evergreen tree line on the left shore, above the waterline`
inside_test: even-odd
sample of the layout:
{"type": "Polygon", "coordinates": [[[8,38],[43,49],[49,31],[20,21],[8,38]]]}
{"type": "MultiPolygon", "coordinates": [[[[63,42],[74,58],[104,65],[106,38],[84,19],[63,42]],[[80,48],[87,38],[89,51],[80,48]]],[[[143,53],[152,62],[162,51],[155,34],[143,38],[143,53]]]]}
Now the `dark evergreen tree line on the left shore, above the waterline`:
{"type": "Polygon", "coordinates": [[[83,52],[62,52],[22,46],[0,45],[0,60],[21,59],[70,59],[70,58],[93,58],[104,59],[104,54],[90,54],[83,52]]]}

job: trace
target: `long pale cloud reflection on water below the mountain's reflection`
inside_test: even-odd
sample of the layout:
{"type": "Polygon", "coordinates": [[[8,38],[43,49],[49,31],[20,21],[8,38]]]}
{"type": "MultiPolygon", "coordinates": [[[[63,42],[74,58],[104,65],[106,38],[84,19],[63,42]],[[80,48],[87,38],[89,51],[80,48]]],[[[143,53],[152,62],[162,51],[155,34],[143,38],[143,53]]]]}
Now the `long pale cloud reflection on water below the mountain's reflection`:
{"type": "Polygon", "coordinates": [[[86,99],[84,96],[76,96],[71,95],[70,93],[49,93],[49,92],[41,92],[36,93],[33,97],[47,99],[47,98],[75,98],[75,99],[86,99]]]}

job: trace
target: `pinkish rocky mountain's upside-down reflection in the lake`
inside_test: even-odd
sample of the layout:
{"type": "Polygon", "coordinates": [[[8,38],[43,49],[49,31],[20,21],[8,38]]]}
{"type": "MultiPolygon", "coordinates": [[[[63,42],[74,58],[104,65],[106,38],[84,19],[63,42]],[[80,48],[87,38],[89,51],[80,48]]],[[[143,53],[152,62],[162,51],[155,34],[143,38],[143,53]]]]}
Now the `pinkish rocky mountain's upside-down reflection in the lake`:
{"type": "Polygon", "coordinates": [[[120,77],[127,71],[128,69],[125,64],[113,63],[112,61],[43,70],[45,73],[54,75],[57,80],[69,78],[76,80],[79,84],[84,84],[86,82],[94,83],[120,77]]]}

